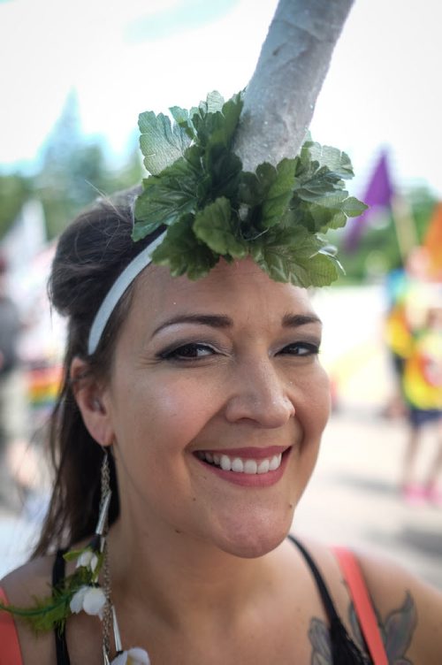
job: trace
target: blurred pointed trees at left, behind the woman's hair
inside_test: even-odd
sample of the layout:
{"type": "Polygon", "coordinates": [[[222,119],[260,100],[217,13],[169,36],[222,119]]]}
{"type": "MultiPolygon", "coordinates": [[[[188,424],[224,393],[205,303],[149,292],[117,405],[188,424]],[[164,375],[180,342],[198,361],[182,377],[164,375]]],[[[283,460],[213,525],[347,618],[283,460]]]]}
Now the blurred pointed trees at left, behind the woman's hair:
{"type": "Polygon", "coordinates": [[[34,175],[0,175],[0,240],[29,198],[42,202],[51,239],[97,195],[111,195],[141,181],[141,155],[135,134],[122,163],[110,162],[108,153],[101,137],[82,133],[78,99],[70,93],[42,147],[34,175]]]}

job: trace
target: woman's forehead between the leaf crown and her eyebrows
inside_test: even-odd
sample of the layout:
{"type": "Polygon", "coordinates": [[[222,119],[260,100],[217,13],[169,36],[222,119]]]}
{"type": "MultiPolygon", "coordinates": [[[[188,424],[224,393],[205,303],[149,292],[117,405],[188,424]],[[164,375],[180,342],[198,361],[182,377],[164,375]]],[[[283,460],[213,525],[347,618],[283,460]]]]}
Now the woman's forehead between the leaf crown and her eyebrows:
{"type": "Polygon", "coordinates": [[[149,311],[152,321],[195,310],[278,319],[290,312],[314,314],[305,289],[273,281],[251,259],[232,264],[222,259],[196,281],[172,278],[166,268],[151,265],[136,281],[133,307],[149,311]]]}

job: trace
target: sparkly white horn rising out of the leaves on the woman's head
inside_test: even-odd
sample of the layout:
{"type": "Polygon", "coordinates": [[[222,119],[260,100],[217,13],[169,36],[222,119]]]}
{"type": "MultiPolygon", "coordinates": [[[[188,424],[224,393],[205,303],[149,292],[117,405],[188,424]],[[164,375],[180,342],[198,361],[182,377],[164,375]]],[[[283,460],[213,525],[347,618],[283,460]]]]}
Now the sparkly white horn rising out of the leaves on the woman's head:
{"type": "Polygon", "coordinates": [[[245,171],[294,157],[353,0],[279,0],[248,84],[234,151],[245,171]]]}

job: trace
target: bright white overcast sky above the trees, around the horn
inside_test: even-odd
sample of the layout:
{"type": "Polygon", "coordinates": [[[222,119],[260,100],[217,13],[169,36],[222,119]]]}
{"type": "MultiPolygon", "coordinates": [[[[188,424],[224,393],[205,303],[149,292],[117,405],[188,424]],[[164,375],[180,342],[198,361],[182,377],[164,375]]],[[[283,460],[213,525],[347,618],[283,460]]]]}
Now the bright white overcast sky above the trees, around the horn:
{"type": "MultiPolygon", "coordinates": [[[[0,169],[32,162],[70,89],[86,133],[121,151],[138,113],[250,79],[277,0],[0,0],[0,169]]],[[[363,188],[389,149],[398,186],[442,197],[440,0],[355,0],[316,104],[316,141],[363,188]]]]}

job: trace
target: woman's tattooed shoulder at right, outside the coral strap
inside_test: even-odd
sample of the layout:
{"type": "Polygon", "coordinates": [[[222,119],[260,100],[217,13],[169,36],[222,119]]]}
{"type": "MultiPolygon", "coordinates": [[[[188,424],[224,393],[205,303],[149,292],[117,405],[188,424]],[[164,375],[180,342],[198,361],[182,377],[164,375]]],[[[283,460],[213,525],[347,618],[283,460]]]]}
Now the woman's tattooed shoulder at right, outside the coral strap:
{"type": "Polygon", "coordinates": [[[407,646],[410,663],[442,662],[442,592],[400,564],[357,553],[387,646],[407,646]]]}

